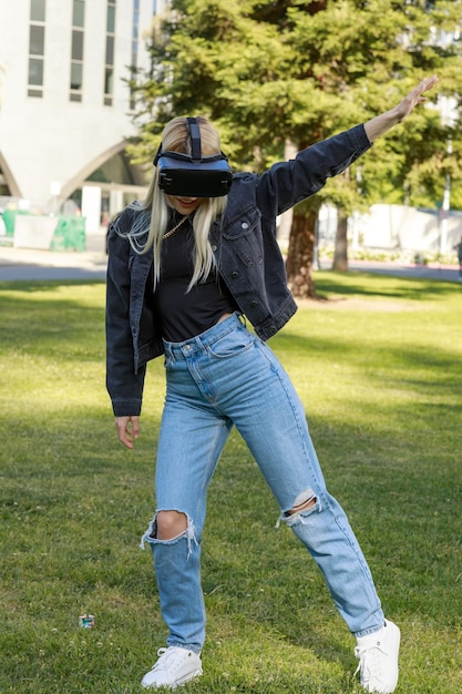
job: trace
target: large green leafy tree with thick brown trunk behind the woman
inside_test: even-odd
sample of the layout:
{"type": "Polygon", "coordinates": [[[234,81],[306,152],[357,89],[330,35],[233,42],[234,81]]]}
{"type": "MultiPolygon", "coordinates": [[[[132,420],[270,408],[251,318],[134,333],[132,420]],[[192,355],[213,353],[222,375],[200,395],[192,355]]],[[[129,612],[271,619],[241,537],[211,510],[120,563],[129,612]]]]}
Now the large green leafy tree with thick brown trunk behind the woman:
{"type": "MultiPolygon", "coordinates": [[[[217,124],[232,164],[260,171],[284,156],[286,141],[300,150],[367,120],[423,74],[448,75],[455,92],[458,44],[430,39],[453,29],[461,8],[462,0],[174,0],[153,32],[152,73],[133,85],[141,96],[133,151],[146,161],[173,114],[201,112],[217,124]]],[[[438,111],[421,110],[361,162],[361,195],[353,170],[296,207],[287,258],[296,296],[316,296],[320,204],[332,202],[345,220],[370,202],[397,202],[404,184],[412,198],[418,188],[434,196],[431,182],[449,165],[442,142],[438,111]]]]}

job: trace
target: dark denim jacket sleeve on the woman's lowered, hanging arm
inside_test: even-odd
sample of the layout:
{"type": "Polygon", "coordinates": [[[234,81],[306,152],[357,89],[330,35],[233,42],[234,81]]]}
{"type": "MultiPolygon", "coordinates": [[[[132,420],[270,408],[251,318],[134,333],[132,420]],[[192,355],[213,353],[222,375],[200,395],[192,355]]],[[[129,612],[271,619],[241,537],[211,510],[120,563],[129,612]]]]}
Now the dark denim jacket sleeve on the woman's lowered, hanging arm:
{"type": "Polygon", "coordinates": [[[130,324],[130,243],[111,225],[106,276],[106,388],[116,417],[141,414],[146,366],[135,372],[130,324]]]}

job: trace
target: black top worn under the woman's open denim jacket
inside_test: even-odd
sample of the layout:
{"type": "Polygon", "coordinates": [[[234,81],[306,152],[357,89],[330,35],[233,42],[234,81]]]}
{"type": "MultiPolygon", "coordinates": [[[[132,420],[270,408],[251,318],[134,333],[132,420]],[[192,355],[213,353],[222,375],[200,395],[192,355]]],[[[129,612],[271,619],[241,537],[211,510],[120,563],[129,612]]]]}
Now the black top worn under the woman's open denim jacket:
{"type": "Polygon", "coordinates": [[[194,233],[191,222],[162,242],[161,280],[154,293],[162,336],[183,343],[207,330],[237,305],[216,271],[189,292],[194,272],[194,233]]]}

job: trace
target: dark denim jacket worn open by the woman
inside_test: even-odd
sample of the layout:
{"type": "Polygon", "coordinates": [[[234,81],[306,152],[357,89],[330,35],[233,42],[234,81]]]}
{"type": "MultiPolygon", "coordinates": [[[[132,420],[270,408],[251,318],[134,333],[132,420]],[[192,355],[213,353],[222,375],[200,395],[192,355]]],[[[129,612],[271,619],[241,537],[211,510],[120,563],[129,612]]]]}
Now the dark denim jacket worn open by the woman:
{"type": "MultiPolygon", "coordinates": [[[[211,243],[220,277],[261,339],[297,310],[276,241],[277,215],[317,193],[370,146],[363,125],[357,125],[263,175],[234,175],[224,220],[213,225],[211,243]]],[[[147,215],[141,206],[126,207],[109,233],[106,386],[120,417],[141,412],[146,363],[163,354],[153,304],[153,249],[140,255],[124,237],[137,214],[147,215]]]]}

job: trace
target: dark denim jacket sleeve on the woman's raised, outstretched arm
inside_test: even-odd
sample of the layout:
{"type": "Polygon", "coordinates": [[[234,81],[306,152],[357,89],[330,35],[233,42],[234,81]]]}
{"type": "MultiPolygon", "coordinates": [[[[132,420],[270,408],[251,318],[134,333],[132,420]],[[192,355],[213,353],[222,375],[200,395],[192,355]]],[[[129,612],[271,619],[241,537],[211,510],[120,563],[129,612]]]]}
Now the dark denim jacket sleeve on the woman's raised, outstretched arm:
{"type": "Polygon", "coordinates": [[[371,146],[361,124],[302,150],[289,162],[275,164],[258,183],[258,207],[264,216],[281,214],[315,195],[327,178],[348,169],[371,146]]]}

